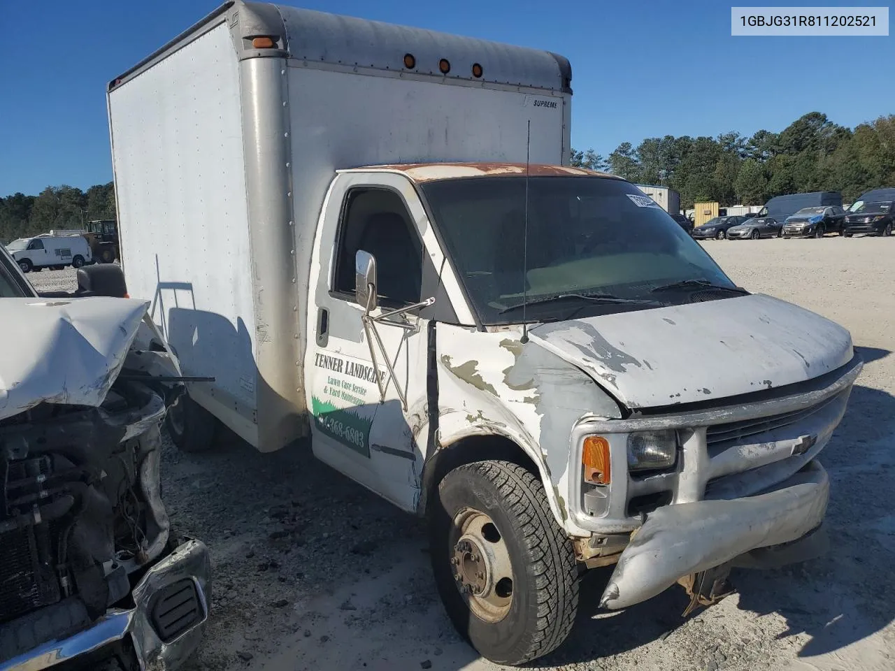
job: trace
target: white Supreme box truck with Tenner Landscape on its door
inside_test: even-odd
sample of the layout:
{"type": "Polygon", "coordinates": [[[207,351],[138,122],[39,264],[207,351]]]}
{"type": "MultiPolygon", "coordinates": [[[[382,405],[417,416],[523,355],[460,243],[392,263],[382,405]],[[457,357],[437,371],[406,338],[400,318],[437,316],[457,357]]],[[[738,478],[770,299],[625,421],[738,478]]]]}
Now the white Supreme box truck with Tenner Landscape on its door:
{"type": "Polygon", "coordinates": [[[737,287],[635,185],[565,166],[544,51],[230,2],[108,86],[122,261],[218,422],[425,515],[482,655],[823,548],[848,331],[737,287]]]}

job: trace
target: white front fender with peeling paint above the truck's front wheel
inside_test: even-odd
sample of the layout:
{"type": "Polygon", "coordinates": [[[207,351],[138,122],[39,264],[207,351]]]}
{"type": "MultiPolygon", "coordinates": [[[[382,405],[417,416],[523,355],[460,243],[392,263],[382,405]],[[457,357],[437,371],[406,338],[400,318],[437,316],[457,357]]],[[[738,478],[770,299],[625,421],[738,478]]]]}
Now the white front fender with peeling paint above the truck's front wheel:
{"type": "Polygon", "coordinates": [[[438,325],[436,449],[471,435],[513,440],[541,471],[557,521],[585,535],[567,510],[572,429],[585,417],[619,418],[618,404],[580,369],[539,344],[523,344],[521,335],[438,325]]]}

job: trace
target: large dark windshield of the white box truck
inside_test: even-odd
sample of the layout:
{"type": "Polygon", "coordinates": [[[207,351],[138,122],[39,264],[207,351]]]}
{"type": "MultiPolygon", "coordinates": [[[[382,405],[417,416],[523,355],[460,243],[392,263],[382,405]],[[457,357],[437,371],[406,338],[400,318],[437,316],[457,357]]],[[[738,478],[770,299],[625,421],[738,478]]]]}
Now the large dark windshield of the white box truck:
{"type": "Polygon", "coordinates": [[[601,177],[532,177],[528,184],[527,268],[524,177],[422,184],[434,223],[483,324],[519,323],[527,301],[581,294],[577,302],[542,301],[528,320],[686,302],[692,286],[658,296],[681,280],[733,288],[699,243],[635,186],[601,177]],[[625,304],[587,301],[612,296],[625,304]]]}

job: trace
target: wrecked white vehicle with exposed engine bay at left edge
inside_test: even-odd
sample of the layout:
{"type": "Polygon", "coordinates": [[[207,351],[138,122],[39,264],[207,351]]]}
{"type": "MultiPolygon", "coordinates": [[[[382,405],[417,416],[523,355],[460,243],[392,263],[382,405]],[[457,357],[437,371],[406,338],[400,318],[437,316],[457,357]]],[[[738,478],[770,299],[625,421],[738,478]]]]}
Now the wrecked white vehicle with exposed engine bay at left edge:
{"type": "Polygon", "coordinates": [[[159,492],[180,371],[119,268],[79,274],[38,295],[0,251],[0,669],[174,669],[210,589],[159,492]]]}

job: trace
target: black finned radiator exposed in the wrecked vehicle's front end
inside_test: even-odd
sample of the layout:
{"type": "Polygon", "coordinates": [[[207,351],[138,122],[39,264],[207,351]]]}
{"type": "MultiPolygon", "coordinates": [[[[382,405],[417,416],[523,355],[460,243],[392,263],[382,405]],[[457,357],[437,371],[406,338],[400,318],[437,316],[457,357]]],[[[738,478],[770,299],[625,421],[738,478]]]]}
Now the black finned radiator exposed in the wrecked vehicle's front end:
{"type": "Polygon", "coordinates": [[[60,599],[59,583],[53,569],[48,562],[41,562],[38,555],[38,545],[46,547],[49,526],[45,522],[0,535],[0,548],[3,548],[3,560],[0,561],[0,623],[9,622],[60,599]]]}

